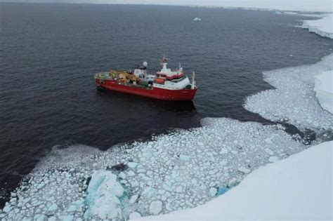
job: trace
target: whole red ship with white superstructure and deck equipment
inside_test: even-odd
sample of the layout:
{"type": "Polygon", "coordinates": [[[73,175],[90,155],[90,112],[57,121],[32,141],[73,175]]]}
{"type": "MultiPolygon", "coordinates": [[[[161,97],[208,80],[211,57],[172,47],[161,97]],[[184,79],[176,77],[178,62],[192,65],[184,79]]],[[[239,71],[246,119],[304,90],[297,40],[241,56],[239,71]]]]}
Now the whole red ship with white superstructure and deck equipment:
{"type": "Polygon", "coordinates": [[[96,85],[111,91],[119,91],[159,100],[192,100],[197,92],[195,73],[192,83],[188,76],[179,69],[171,71],[167,68],[168,59],[162,59],[162,69],[156,74],[147,74],[147,62],[131,70],[114,70],[95,74],[96,85]]]}

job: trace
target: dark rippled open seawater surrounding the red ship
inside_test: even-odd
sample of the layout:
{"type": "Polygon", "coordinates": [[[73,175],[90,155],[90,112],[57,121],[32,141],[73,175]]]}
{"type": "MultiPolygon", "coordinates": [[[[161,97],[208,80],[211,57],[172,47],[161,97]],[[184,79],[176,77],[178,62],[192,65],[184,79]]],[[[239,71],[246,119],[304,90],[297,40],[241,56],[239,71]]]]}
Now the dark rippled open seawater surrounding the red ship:
{"type": "Polygon", "coordinates": [[[200,126],[207,116],[265,123],[242,107],[247,95],[270,88],[261,72],[332,52],[332,40],[294,27],[302,19],[176,6],[0,4],[0,196],[55,145],[108,149],[200,126]],[[144,60],[155,72],[163,53],[169,67],[181,62],[196,72],[193,102],[96,89],[94,73],[144,60]]]}

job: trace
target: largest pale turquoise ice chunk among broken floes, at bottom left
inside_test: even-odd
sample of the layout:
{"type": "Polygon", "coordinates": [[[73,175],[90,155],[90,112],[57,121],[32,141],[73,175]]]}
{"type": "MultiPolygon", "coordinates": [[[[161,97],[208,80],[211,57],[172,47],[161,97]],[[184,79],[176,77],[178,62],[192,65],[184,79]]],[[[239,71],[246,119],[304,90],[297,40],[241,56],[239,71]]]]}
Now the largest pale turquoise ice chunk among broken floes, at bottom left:
{"type": "Polygon", "coordinates": [[[117,175],[108,170],[97,170],[91,176],[87,192],[88,209],[84,213],[86,219],[97,216],[105,220],[121,216],[118,197],[124,194],[124,189],[117,182],[117,175]]]}

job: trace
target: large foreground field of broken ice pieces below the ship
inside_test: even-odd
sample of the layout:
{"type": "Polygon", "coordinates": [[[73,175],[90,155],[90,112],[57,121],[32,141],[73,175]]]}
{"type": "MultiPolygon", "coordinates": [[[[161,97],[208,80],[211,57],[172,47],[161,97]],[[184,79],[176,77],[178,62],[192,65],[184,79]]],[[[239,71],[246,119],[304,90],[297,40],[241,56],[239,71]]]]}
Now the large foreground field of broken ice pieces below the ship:
{"type": "Polygon", "coordinates": [[[237,185],[271,156],[285,159],[307,147],[282,126],[233,119],[204,119],[202,125],[106,152],[54,148],[11,194],[0,218],[122,220],[193,208],[214,199],[218,187],[237,185]],[[110,169],[119,163],[128,167],[110,169]]]}

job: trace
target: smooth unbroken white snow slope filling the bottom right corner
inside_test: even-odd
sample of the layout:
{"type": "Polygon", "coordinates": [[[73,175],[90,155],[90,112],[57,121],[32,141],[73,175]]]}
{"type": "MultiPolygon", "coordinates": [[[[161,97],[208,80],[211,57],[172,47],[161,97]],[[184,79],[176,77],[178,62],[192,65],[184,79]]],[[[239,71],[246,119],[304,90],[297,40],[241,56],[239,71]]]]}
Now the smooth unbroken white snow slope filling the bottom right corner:
{"type": "Polygon", "coordinates": [[[197,208],[135,220],[332,220],[333,141],[248,175],[197,208]]]}

